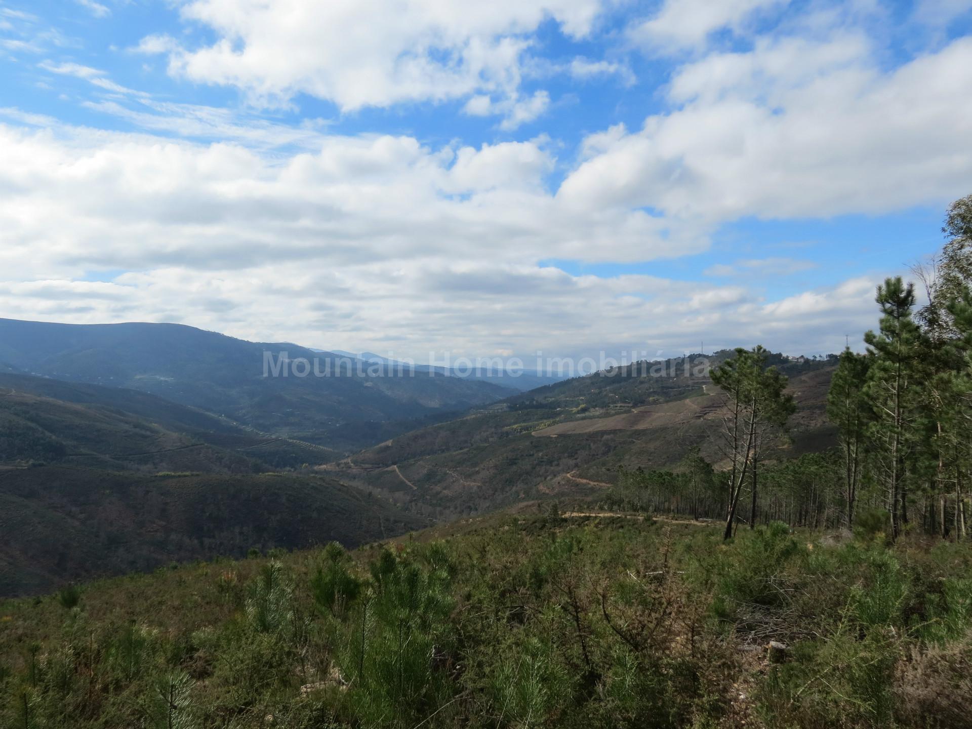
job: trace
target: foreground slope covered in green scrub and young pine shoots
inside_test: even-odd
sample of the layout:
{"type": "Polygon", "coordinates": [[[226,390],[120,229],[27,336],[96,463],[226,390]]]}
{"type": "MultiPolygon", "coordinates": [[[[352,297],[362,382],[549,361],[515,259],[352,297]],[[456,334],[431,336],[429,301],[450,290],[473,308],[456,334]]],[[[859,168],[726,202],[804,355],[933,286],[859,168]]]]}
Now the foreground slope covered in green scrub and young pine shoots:
{"type": "Polygon", "coordinates": [[[968,726],[972,553],[520,512],[0,601],[0,725],[968,726]]]}

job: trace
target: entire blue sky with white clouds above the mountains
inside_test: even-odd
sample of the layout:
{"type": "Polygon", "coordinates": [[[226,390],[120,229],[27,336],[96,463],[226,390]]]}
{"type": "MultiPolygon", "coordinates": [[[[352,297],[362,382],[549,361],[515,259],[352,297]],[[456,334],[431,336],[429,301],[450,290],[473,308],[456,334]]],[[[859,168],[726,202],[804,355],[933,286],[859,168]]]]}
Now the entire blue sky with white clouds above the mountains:
{"type": "Polygon", "coordinates": [[[972,192],[970,0],[0,0],[0,66],[15,318],[823,353],[972,192]]]}

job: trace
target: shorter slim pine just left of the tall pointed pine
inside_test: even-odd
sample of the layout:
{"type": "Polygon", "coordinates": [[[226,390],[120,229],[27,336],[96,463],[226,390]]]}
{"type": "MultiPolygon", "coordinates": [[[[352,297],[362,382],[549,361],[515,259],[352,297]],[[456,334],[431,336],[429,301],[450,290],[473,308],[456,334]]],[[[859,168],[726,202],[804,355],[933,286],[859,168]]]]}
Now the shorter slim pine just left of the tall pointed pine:
{"type": "Polygon", "coordinates": [[[844,502],[848,529],[853,528],[863,461],[862,447],[867,426],[873,418],[864,394],[870,367],[871,358],[868,355],[858,355],[848,347],[840,357],[827,393],[827,416],[840,430],[841,450],[844,452],[844,502]]]}

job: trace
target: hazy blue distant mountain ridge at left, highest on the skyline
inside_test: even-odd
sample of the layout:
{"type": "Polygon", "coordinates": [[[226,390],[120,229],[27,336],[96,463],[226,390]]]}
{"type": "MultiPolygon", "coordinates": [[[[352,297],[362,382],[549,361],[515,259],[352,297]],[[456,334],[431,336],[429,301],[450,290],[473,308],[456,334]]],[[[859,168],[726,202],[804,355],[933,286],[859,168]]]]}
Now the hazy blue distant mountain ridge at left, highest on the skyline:
{"type": "Polygon", "coordinates": [[[371,374],[365,363],[334,374],[341,359],[294,344],[248,342],[175,324],[0,319],[0,364],[7,370],[140,390],[261,433],[340,449],[408,430],[402,422],[465,410],[511,392],[436,372],[371,374]],[[331,375],[266,377],[264,352],[274,358],[286,352],[290,361],[317,359],[318,371],[331,375]]]}

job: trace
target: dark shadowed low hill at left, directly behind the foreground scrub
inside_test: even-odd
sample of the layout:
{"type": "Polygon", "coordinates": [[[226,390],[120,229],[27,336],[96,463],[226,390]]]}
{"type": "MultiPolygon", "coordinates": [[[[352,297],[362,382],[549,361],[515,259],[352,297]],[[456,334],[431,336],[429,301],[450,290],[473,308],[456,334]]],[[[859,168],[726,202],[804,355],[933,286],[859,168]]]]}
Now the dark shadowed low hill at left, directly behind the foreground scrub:
{"type": "Polygon", "coordinates": [[[332,539],[354,546],[425,526],[320,476],[144,476],[69,467],[0,470],[0,595],[51,590],[173,561],[332,539]]]}

